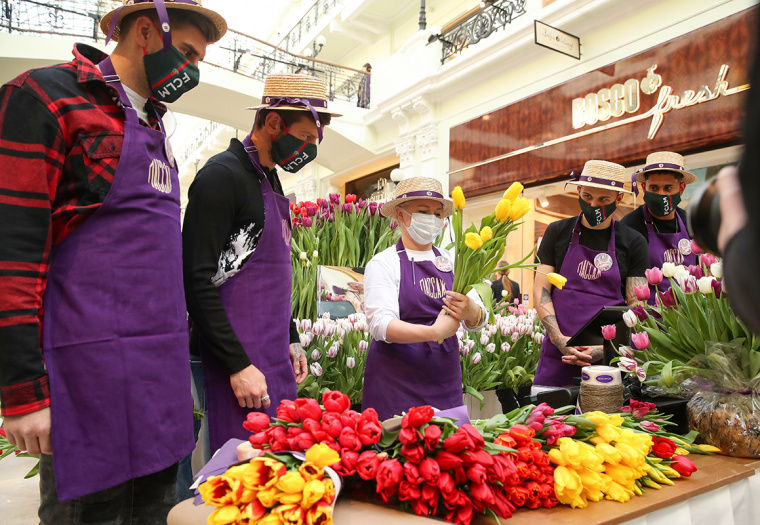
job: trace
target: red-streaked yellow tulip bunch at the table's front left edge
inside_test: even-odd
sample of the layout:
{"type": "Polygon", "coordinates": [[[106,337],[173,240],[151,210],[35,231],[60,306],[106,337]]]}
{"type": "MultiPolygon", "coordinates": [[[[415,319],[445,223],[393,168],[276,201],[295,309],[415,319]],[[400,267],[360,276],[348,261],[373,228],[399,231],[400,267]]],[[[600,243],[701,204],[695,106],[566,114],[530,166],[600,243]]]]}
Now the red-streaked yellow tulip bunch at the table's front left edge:
{"type": "Polygon", "coordinates": [[[292,456],[267,455],[230,467],[198,488],[206,505],[217,507],[207,523],[329,525],[335,485],[324,475],[324,468],[338,461],[338,453],[327,445],[315,445],[303,462],[292,456]]]}

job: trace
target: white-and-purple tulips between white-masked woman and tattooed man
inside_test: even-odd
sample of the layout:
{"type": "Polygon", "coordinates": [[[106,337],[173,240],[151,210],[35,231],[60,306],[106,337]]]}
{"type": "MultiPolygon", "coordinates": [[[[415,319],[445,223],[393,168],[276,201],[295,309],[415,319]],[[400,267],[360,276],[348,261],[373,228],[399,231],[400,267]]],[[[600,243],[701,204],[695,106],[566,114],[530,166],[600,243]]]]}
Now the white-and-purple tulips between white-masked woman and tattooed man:
{"type": "Polygon", "coordinates": [[[480,332],[457,332],[465,392],[478,392],[533,383],[545,329],[534,308],[508,306],[480,332]]]}

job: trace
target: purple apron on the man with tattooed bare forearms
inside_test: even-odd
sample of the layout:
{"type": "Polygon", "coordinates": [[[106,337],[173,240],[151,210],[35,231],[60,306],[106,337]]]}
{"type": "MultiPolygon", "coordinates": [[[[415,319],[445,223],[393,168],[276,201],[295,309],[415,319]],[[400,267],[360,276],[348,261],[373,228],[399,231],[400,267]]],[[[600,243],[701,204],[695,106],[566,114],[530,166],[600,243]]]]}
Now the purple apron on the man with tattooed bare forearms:
{"type": "MultiPolygon", "coordinates": [[[[620,292],[620,269],[615,257],[615,221],[610,224],[610,242],[607,251],[597,252],[580,243],[580,220],[575,221],[573,237],[562,262],[560,274],[567,278],[562,288],[552,289],[552,303],[560,332],[572,337],[603,306],[625,304],[620,292]]],[[[551,339],[544,338],[538,360],[535,385],[577,385],[581,367],[562,362],[562,352],[551,339]]]]}

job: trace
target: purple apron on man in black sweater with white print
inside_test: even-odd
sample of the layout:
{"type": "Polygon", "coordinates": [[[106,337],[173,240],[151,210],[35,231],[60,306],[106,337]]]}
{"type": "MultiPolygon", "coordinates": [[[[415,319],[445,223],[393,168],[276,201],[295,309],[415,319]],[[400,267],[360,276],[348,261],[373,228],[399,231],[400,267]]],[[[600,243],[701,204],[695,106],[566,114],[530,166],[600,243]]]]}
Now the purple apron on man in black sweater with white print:
{"type": "MultiPolygon", "coordinates": [[[[261,182],[264,230],[253,254],[243,267],[219,286],[219,297],[230,325],[251,364],[264,374],[271,405],[268,410],[241,408],[230,386],[230,373],[206,345],[201,344],[203,379],[211,450],[230,438],[248,439],[243,428],[249,412],[275,416],[282,399],[296,398],[296,376],[290,361],[290,206],[278,195],[264,174],[250,137],[243,146],[261,182]]],[[[316,285],[315,285],[316,286],[316,285]]]]}

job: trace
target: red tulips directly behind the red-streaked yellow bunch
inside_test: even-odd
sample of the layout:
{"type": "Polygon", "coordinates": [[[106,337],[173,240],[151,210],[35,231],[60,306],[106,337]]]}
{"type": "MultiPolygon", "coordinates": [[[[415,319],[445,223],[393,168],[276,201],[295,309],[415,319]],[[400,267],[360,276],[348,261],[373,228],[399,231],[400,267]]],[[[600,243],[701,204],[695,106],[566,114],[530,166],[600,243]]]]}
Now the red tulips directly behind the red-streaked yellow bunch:
{"type": "Polygon", "coordinates": [[[357,468],[370,468],[374,459],[368,463],[365,457],[360,463],[360,456],[364,450],[374,449],[383,432],[374,409],[351,410],[348,396],[337,390],[325,392],[321,406],[315,399],[284,399],[274,420],[251,412],[243,426],[253,432],[248,441],[257,449],[305,451],[319,443],[329,446],[340,454],[340,463],[331,467],[342,476],[356,474],[357,468]]]}

